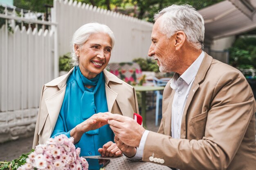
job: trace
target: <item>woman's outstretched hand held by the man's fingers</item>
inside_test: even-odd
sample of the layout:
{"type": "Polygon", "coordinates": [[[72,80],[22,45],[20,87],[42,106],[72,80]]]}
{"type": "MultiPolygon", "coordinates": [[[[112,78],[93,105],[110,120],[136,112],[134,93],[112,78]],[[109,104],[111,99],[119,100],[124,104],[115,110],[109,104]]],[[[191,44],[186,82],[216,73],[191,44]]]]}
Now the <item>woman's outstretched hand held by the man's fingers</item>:
{"type": "Polygon", "coordinates": [[[83,133],[99,129],[100,127],[108,124],[106,116],[106,113],[97,113],[92,115],[90,118],[83,121],[82,123],[76,125],[76,127],[74,127],[74,129],[70,131],[70,136],[74,137],[74,144],[79,142],[83,133]]]}

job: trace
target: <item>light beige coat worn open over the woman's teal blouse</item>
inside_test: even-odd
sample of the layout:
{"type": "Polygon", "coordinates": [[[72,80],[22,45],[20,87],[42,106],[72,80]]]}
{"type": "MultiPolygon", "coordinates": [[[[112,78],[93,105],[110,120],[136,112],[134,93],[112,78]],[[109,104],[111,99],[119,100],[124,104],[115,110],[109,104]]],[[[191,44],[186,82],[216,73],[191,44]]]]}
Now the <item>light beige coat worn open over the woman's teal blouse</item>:
{"type": "MultiPolygon", "coordinates": [[[[73,69],[43,86],[40,98],[33,148],[50,138],[63,103],[66,81],[73,69]]],[[[103,70],[108,111],[133,118],[139,113],[135,89],[114,74],[103,70]]]]}

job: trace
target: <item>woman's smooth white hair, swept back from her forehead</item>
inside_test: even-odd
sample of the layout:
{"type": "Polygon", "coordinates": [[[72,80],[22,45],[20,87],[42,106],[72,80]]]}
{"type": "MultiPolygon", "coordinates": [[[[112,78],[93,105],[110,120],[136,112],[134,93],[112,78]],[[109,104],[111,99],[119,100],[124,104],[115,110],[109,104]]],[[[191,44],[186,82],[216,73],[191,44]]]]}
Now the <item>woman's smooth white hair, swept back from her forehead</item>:
{"type": "Polygon", "coordinates": [[[80,28],[76,30],[76,32],[73,35],[71,46],[72,46],[72,53],[71,53],[71,64],[73,66],[79,65],[79,57],[76,56],[75,50],[74,50],[74,44],[78,44],[79,48],[85,44],[86,41],[88,41],[88,38],[90,35],[95,33],[106,33],[109,35],[111,39],[111,46],[112,48],[115,45],[115,36],[113,31],[110,30],[110,28],[104,24],[99,23],[89,23],[84,24],[80,28]]]}

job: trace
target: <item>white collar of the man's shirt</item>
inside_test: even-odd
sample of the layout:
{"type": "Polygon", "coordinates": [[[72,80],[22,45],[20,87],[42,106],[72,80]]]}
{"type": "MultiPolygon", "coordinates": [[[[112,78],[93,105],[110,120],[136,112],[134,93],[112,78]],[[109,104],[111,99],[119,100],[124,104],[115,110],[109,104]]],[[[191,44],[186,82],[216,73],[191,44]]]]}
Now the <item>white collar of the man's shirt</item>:
{"type": "Polygon", "coordinates": [[[198,58],[189,66],[189,68],[179,77],[177,73],[173,75],[170,81],[170,87],[174,90],[177,89],[177,80],[178,78],[182,78],[188,85],[195,78],[198,73],[199,67],[202,64],[204,59],[204,51],[198,56],[198,58]]]}

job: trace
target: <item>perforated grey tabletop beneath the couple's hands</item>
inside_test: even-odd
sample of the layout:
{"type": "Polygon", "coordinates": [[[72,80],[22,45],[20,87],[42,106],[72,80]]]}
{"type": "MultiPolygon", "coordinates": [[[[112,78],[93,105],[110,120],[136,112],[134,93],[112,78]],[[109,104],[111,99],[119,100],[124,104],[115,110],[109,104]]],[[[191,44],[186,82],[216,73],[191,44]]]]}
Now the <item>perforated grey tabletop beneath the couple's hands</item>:
{"type": "MultiPolygon", "coordinates": [[[[151,162],[132,161],[125,156],[121,157],[101,157],[101,156],[86,156],[86,158],[110,159],[105,170],[171,170],[168,166],[159,165],[151,162]]],[[[89,164],[90,170],[90,164],[89,164]]]]}

